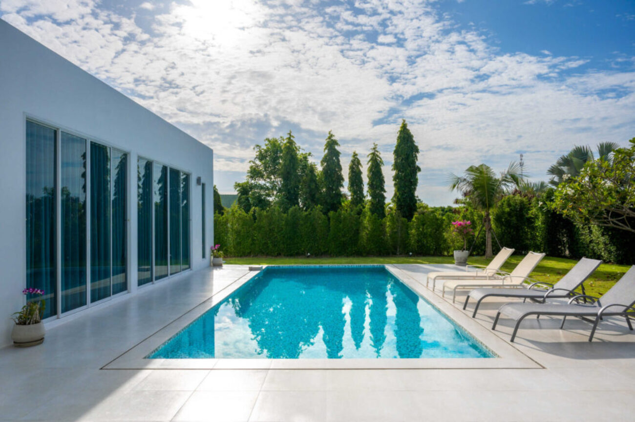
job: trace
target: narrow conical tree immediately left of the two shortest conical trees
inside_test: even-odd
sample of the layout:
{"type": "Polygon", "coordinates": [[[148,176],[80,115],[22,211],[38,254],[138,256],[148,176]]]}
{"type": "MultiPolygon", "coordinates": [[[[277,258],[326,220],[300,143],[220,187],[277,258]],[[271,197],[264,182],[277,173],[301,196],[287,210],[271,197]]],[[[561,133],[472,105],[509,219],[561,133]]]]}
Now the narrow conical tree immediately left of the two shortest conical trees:
{"type": "Polygon", "coordinates": [[[344,195],[344,176],[342,176],[342,164],[340,163],[340,152],[337,147],[340,143],[328,132],[326,143],[324,143],[324,157],[322,157],[322,181],[323,181],[323,206],[324,212],[337,211],[342,205],[344,195]]]}

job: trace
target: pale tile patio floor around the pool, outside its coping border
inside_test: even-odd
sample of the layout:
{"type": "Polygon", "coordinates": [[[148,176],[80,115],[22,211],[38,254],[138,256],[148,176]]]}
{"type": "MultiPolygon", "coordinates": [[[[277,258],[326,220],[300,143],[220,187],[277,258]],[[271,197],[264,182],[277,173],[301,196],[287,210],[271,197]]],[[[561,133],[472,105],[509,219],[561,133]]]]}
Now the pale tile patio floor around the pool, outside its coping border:
{"type": "MultiPolygon", "coordinates": [[[[422,280],[439,266],[397,267],[422,280]]],[[[0,349],[0,421],[634,420],[635,334],[618,319],[592,343],[587,322],[526,320],[513,344],[542,369],[100,369],[247,270],[189,272],[52,327],[41,346],[0,349]]]]}

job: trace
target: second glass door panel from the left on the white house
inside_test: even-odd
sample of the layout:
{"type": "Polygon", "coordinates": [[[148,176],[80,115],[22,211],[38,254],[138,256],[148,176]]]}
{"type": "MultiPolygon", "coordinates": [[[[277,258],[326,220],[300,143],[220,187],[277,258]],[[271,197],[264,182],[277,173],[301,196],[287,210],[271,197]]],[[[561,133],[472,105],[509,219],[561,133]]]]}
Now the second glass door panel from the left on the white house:
{"type": "Polygon", "coordinates": [[[86,140],[62,132],[60,145],[62,312],[86,305],[86,140]]]}

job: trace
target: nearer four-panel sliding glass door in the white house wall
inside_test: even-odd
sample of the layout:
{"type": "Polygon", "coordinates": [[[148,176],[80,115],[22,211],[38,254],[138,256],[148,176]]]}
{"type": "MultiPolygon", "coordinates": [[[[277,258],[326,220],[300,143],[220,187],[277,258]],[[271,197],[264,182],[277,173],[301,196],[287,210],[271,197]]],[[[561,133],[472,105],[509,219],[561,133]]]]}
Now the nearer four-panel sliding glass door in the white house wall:
{"type": "Polygon", "coordinates": [[[26,287],[44,318],[126,291],[128,155],[32,121],[26,135],[26,287]]]}

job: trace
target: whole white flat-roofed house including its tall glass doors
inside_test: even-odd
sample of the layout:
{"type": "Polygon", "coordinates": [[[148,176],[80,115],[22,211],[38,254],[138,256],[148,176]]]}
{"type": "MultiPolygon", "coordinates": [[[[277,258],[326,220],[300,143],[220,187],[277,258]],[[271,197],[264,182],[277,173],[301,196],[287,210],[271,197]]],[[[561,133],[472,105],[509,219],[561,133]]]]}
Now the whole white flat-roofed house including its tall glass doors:
{"type": "Polygon", "coordinates": [[[0,142],[0,346],[209,265],[211,148],[2,20],[0,142]]]}

